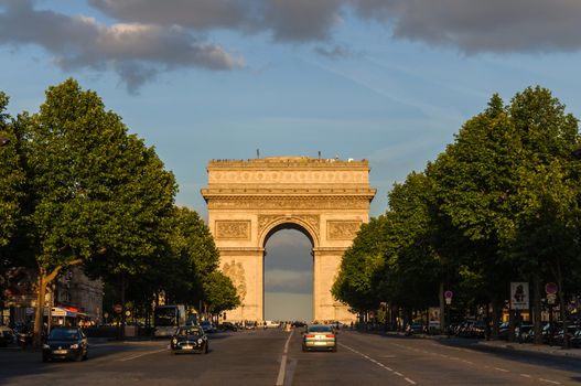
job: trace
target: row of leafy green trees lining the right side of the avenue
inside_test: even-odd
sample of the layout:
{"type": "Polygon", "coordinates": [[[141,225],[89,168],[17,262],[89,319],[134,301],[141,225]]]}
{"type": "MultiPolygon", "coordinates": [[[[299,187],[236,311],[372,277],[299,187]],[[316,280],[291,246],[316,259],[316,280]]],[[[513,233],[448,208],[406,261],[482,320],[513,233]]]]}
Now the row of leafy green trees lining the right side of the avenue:
{"type": "Polygon", "coordinates": [[[510,281],[530,283],[536,321],[542,285],[555,281],[564,319],[581,293],[580,144],[577,118],[548,89],[508,105],[494,95],[423,172],[395,184],[386,213],[346,251],[334,297],[362,313],[386,302],[409,315],[443,310],[450,289],[458,309],[489,307],[497,325],[510,281]]]}

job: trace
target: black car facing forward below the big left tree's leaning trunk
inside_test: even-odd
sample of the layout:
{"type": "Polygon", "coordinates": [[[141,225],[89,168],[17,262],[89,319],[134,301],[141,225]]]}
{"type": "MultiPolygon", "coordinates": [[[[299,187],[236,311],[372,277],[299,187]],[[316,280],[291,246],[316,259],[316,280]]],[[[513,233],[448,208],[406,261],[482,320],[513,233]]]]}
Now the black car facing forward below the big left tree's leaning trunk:
{"type": "Polygon", "coordinates": [[[79,328],[55,328],[51,330],[42,346],[42,361],[83,361],[88,355],[88,340],[79,328]]]}

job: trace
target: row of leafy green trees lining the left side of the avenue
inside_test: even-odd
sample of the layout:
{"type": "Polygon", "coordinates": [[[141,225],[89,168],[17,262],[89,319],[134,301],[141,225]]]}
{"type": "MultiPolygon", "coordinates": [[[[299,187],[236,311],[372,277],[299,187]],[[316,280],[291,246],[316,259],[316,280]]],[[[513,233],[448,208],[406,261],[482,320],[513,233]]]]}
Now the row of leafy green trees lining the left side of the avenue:
{"type": "Polygon", "coordinates": [[[138,304],[163,291],[214,312],[236,307],[208,228],[174,205],[173,174],[96,93],[68,79],[47,89],[36,114],[12,118],[7,105],[0,93],[0,135],[10,140],[0,149],[0,261],[37,270],[37,304],[82,265],[138,304]]]}

